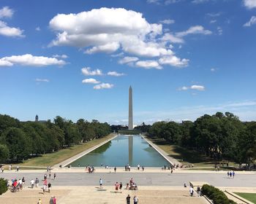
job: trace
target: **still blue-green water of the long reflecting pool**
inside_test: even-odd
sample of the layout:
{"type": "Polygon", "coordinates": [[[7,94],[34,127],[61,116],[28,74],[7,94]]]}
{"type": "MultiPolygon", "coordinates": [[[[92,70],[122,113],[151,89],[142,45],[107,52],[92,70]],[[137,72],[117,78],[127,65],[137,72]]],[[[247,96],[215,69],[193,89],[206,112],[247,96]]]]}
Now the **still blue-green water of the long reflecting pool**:
{"type": "Polygon", "coordinates": [[[145,167],[161,167],[170,165],[153,147],[151,147],[140,136],[117,136],[112,141],[99,146],[99,148],[89,154],[80,157],[70,165],[72,167],[81,167],[87,165],[108,165],[119,166],[131,165],[145,167]]]}

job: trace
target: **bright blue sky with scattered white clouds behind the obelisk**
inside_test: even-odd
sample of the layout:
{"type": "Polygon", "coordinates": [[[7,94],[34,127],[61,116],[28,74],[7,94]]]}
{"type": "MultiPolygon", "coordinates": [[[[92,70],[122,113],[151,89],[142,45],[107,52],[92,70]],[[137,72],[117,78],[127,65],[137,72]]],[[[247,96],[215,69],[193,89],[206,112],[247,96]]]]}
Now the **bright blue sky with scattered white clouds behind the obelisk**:
{"type": "Polygon", "coordinates": [[[0,2],[0,113],[256,119],[256,0],[0,2]]]}

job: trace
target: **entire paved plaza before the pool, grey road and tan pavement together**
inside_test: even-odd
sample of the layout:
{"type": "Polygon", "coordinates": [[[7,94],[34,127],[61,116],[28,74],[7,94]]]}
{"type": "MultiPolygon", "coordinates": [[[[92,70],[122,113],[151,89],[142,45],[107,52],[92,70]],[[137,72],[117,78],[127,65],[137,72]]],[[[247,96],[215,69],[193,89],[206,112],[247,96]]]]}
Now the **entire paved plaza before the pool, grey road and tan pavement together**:
{"type": "MultiPolygon", "coordinates": [[[[146,171],[135,170],[125,172],[123,168],[117,168],[117,173],[109,172],[109,169],[97,168],[96,173],[86,173],[83,168],[54,169],[56,179],[49,179],[52,183],[52,191],[42,194],[42,180],[45,170],[20,170],[5,171],[1,177],[26,178],[26,184],[20,192],[8,191],[0,196],[0,203],[48,203],[51,195],[57,197],[58,203],[125,203],[129,194],[131,197],[137,195],[140,203],[207,203],[204,197],[189,196],[189,187],[184,188],[184,183],[189,186],[189,181],[204,181],[222,190],[230,192],[256,192],[256,174],[254,172],[238,172],[235,178],[228,178],[224,171],[193,171],[193,170],[161,170],[159,168],[148,168],[146,171]],[[31,189],[29,181],[31,178],[39,178],[38,188],[31,189]],[[103,189],[99,189],[99,178],[103,180],[103,189]],[[138,185],[138,191],[125,189],[129,179],[133,178],[138,185]],[[115,192],[114,184],[123,183],[123,189],[115,192]]],[[[240,202],[242,203],[242,202],[240,202]]]]}

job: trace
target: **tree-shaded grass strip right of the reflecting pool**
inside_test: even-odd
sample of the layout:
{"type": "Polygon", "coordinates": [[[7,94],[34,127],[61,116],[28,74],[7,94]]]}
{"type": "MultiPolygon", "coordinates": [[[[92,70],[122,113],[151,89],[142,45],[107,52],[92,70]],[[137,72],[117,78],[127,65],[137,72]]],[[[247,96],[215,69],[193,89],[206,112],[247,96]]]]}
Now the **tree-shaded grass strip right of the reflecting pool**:
{"type": "MultiPolygon", "coordinates": [[[[197,168],[197,170],[214,170],[214,165],[216,163],[219,163],[218,161],[210,157],[206,157],[206,155],[200,154],[199,152],[196,152],[194,150],[186,149],[177,145],[167,144],[167,142],[163,139],[150,140],[154,142],[154,144],[157,144],[159,148],[167,152],[170,157],[173,157],[184,165],[193,164],[194,168],[197,168]]],[[[235,164],[233,162],[229,162],[229,166],[230,165],[234,166],[235,164]]],[[[222,165],[220,165],[219,167],[220,169],[222,169],[222,165]]],[[[223,168],[227,169],[227,165],[225,164],[223,168]]]]}

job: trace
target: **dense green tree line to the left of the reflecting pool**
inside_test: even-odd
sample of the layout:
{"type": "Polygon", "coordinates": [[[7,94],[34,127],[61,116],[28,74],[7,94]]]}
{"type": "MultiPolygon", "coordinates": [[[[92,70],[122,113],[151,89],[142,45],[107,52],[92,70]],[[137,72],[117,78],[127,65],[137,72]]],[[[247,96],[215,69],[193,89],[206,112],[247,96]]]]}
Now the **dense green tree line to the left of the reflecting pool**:
{"type": "Polygon", "coordinates": [[[46,122],[20,122],[0,114],[0,161],[21,161],[59,151],[73,144],[102,138],[111,132],[107,122],[93,119],[77,122],[57,116],[46,122]]]}

